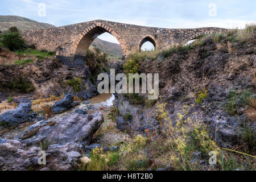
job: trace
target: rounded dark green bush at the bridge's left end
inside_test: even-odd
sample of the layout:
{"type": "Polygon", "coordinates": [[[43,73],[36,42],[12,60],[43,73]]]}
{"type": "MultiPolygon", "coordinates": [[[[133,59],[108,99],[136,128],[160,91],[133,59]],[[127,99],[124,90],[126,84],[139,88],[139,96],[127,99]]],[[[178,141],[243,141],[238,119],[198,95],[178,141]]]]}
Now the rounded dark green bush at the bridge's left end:
{"type": "Polygon", "coordinates": [[[22,36],[20,36],[19,32],[8,31],[6,34],[1,36],[0,42],[9,48],[10,51],[16,51],[26,47],[25,41],[23,40],[22,36]]]}

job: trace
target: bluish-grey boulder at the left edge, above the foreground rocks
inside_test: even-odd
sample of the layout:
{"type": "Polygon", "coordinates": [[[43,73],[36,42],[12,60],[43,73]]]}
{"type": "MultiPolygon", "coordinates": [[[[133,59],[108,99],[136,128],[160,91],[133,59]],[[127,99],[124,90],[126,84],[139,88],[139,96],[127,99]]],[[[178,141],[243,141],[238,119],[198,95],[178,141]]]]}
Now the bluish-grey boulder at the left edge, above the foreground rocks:
{"type": "Polygon", "coordinates": [[[14,110],[6,111],[0,115],[1,126],[13,126],[22,122],[30,121],[37,113],[30,113],[31,103],[27,100],[26,103],[20,103],[14,110]]]}

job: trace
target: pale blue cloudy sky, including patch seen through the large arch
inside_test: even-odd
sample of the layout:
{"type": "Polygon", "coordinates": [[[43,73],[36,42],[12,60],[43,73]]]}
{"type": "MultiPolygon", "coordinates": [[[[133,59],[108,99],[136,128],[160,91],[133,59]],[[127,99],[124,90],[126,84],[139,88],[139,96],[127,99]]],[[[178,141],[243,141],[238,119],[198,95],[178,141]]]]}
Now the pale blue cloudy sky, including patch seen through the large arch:
{"type": "MultiPolygon", "coordinates": [[[[104,19],[162,28],[243,28],[255,22],[255,7],[255,0],[1,0],[0,15],[55,26],[104,19]]],[[[110,34],[99,38],[118,43],[110,34]]]]}

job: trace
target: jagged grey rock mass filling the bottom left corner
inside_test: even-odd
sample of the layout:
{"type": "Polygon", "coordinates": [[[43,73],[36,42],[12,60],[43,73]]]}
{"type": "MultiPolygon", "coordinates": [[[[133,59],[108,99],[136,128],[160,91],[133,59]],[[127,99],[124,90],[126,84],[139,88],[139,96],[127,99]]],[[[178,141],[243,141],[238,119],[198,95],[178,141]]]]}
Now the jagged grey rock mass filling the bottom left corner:
{"type": "Polygon", "coordinates": [[[26,144],[18,140],[7,140],[0,143],[0,170],[76,170],[77,162],[82,157],[81,146],[76,143],[64,145],[54,144],[46,152],[46,165],[40,165],[38,159],[42,156],[40,147],[26,148],[26,144]]]}

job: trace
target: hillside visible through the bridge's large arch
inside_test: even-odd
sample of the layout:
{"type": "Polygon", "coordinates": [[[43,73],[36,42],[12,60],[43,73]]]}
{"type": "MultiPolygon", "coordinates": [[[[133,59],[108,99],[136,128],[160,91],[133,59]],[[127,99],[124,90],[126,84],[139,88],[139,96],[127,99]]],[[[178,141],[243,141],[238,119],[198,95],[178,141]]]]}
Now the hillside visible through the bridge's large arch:
{"type": "Polygon", "coordinates": [[[101,51],[107,53],[110,57],[118,58],[122,57],[123,55],[122,48],[119,44],[107,42],[96,38],[95,40],[93,40],[91,45],[101,49],[101,51]]]}

